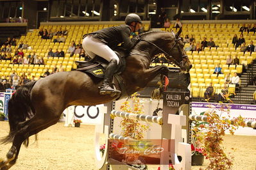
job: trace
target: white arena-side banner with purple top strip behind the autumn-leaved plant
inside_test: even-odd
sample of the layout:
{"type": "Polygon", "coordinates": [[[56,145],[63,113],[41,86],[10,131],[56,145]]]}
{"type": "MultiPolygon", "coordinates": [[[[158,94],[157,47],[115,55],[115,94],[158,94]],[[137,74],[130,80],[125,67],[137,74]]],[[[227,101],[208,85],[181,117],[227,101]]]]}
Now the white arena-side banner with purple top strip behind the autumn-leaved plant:
{"type": "MultiPolygon", "coordinates": [[[[209,109],[209,105],[214,105],[216,108],[221,107],[220,104],[192,102],[191,114],[200,114],[201,112],[205,112],[209,109]]],[[[230,107],[230,118],[242,116],[246,121],[256,121],[256,105],[230,104],[230,107]]],[[[221,111],[219,111],[219,114],[221,114],[221,111]]],[[[224,114],[225,113],[222,112],[222,116],[224,116],[224,114]]],[[[235,131],[235,135],[256,135],[256,130],[250,127],[239,127],[235,131]]]]}

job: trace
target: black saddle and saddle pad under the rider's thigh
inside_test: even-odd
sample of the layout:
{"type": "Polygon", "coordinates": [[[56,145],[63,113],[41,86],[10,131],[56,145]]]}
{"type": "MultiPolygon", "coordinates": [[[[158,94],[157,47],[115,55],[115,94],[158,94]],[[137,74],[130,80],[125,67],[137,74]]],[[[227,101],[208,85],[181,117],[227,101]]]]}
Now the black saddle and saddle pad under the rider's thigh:
{"type": "MultiPolygon", "coordinates": [[[[117,56],[119,57],[119,64],[118,69],[115,72],[115,75],[121,74],[126,65],[125,57],[126,55],[124,52],[116,52],[117,56]]],[[[108,66],[108,61],[96,56],[94,59],[90,61],[75,61],[77,68],[76,70],[83,72],[83,73],[89,73],[90,75],[93,75],[94,77],[98,77],[99,79],[103,79],[105,75],[105,69],[108,66]]]]}

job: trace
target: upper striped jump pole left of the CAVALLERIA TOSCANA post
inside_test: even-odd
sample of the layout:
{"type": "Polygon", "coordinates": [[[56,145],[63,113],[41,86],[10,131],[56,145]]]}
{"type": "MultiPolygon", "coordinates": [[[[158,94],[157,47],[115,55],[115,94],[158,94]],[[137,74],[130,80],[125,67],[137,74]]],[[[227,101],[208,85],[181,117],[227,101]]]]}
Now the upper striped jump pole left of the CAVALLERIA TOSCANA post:
{"type": "Polygon", "coordinates": [[[144,114],[134,114],[130,112],[121,112],[121,111],[111,111],[110,113],[112,116],[117,116],[125,119],[130,120],[139,120],[139,121],[146,121],[151,123],[158,123],[159,125],[162,125],[163,119],[162,116],[150,116],[150,115],[144,115],[144,114]]]}

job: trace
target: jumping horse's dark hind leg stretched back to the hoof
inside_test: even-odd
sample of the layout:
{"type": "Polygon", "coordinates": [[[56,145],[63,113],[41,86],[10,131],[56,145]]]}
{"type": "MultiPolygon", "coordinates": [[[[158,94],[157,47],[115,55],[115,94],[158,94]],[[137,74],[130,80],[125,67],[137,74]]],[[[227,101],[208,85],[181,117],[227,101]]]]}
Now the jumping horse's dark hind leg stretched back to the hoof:
{"type": "Polygon", "coordinates": [[[17,160],[19,155],[19,150],[21,149],[21,144],[31,135],[37,134],[38,132],[55,125],[59,116],[54,116],[56,114],[46,114],[46,112],[37,112],[37,114],[30,120],[24,121],[19,125],[19,131],[15,134],[13,138],[13,144],[8,153],[6,154],[6,160],[0,162],[1,170],[10,169],[17,160]],[[37,115],[40,115],[38,117],[37,115]],[[43,116],[44,115],[44,116],[43,116]],[[51,115],[51,116],[50,116],[51,115]]]}

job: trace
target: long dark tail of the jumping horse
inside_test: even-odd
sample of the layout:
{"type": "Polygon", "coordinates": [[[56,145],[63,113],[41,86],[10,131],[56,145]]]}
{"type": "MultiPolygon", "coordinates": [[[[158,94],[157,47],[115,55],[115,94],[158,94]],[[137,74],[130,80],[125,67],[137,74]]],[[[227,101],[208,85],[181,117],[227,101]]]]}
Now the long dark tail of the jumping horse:
{"type": "Polygon", "coordinates": [[[18,88],[13,93],[12,98],[8,102],[8,120],[10,125],[9,134],[1,139],[1,143],[10,143],[13,141],[14,135],[19,130],[19,123],[26,121],[26,118],[32,118],[35,114],[30,101],[30,91],[36,81],[28,82],[18,88]]]}

